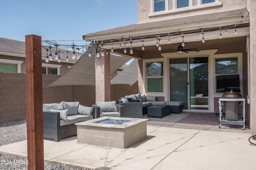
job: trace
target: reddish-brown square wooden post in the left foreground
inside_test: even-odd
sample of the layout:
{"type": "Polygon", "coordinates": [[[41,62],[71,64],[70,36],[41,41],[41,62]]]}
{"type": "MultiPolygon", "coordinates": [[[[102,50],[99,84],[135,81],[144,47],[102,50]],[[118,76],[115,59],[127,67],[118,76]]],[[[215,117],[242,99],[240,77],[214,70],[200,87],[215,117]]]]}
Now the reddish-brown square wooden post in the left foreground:
{"type": "Polygon", "coordinates": [[[44,169],[41,37],[26,35],[26,123],[28,170],[44,169]]]}

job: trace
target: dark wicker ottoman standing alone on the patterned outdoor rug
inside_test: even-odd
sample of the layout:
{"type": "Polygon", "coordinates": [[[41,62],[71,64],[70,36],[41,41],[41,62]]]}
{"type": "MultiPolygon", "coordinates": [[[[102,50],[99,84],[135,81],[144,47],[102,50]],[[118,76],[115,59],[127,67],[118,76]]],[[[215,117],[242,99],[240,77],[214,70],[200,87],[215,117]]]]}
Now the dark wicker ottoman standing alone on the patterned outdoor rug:
{"type": "Polygon", "coordinates": [[[148,106],[148,117],[162,118],[166,115],[170,115],[169,105],[148,106]]]}

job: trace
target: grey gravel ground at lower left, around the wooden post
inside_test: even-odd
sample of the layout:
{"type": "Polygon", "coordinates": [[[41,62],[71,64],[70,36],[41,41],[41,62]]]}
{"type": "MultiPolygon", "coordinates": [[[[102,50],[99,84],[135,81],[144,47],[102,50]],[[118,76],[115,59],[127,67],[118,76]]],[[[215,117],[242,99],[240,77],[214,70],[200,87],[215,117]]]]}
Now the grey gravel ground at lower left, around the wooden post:
{"type": "MultiPolygon", "coordinates": [[[[0,146],[27,139],[26,121],[0,123],[0,146]]],[[[27,170],[26,156],[0,153],[0,170],[27,170]]],[[[45,170],[89,170],[79,166],[44,160],[45,170]]]]}

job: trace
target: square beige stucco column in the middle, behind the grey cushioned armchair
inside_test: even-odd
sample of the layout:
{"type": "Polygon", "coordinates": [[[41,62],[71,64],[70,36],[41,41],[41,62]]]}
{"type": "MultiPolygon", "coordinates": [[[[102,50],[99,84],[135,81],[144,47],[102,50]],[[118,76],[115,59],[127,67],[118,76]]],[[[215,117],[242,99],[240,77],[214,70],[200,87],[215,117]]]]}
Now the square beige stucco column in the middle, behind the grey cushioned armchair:
{"type": "Polygon", "coordinates": [[[95,81],[96,101],[110,101],[110,55],[105,50],[104,56],[95,57],[95,81]]]}

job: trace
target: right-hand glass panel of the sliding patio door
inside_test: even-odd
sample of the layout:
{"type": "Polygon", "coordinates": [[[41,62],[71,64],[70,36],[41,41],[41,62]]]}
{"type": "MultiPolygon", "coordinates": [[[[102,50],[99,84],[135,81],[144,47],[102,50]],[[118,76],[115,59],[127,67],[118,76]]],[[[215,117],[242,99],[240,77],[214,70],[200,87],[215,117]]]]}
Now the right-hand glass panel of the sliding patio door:
{"type": "Polygon", "coordinates": [[[190,109],[208,110],[208,57],[189,58],[190,109]]]}

